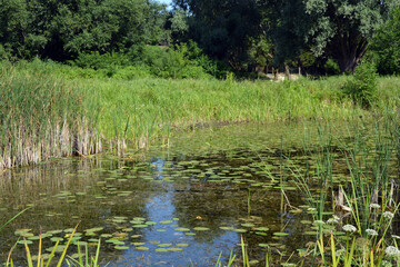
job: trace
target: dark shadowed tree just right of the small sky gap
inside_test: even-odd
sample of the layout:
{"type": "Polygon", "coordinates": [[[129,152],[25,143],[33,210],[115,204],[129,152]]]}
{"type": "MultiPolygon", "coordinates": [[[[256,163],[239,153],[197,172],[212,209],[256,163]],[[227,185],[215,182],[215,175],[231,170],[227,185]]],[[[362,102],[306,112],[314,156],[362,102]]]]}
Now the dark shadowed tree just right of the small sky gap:
{"type": "Polygon", "coordinates": [[[188,11],[189,38],[212,58],[240,70],[250,39],[258,34],[261,16],[256,0],[174,0],[188,11]]]}

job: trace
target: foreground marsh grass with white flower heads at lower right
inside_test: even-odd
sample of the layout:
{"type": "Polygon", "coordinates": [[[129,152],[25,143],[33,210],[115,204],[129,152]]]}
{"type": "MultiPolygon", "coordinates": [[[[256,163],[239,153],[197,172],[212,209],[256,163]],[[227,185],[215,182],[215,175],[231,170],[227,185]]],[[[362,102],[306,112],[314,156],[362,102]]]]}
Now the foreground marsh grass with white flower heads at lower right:
{"type": "Polygon", "coordinates": [[[400,264],[397,256],[390,258],[387,253],[390,246],[397,248],[390,234],[397,234],[392,231],[392,220],[399,210],[394,186],[399,177],[399,125],[396,110],[384,110],[372,119],[351,120],[347,126],[351,138],[346,141],[332,134],[329,122],[321,125],[317,148],[304,146],[304,154],[312,150],[316,158],[317,170],[312,177],[286,157],[291,179],[312,207],[310,214],[319,225],[310,255],[321,265],[380,266],[383,260],[400,264]],[[333,139],[339,147],[332,146],[333,139]],[[334,179],[334,168],[340,165],[348,170],[348,177],[341,181],[334,179]],[[316,185],[319,195],[311,191],[316,185]],[[332,210],[327,205],[330,195],[337,196],[332,200],[337,207],[332,210]],[[327,220],[324,211],[337,216],[327,220]],[[334,236],[334,231],[344,230],[344,224],[353,225],[350,227],[353,230],[348,231],[344,239],[334,236]]]}

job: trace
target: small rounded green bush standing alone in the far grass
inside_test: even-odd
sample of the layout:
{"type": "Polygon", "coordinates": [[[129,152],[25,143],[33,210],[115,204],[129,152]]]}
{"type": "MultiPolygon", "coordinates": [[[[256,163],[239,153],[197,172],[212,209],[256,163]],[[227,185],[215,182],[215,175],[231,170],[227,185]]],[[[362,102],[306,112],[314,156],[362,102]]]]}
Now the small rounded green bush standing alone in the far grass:
{"type": "Polygon", "coordinates": [[[353,77],[344,85],[344,93],[354,103],[369,108],[377,100],[377,68],[373,63],[362,61],[356,69],[353,77]]]}

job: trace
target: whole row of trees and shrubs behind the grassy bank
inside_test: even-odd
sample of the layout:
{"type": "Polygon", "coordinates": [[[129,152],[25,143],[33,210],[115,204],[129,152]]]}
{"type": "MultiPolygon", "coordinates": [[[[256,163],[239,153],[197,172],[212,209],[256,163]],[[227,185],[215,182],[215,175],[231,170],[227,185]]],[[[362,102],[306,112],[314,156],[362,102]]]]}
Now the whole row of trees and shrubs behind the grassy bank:
{"type": "Polygon", "coordinates": [[[0,58],[113,76],[400,73],[399,0],[0,0],[0,58]]]}

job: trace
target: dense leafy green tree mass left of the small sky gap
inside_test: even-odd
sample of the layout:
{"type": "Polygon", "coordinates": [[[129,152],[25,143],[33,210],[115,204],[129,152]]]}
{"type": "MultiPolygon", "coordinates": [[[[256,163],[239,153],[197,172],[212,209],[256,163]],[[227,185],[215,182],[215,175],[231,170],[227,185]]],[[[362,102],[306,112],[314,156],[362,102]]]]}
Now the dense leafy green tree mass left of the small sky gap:
{"type": "Polygon", "coordinates": [[[158,44],[164,4],[143,0],[0,0],[0,44],[17,58],[60,61],[81,52],[158,44]]]}

